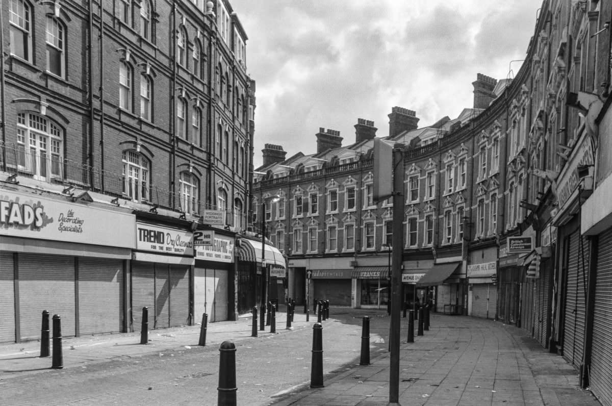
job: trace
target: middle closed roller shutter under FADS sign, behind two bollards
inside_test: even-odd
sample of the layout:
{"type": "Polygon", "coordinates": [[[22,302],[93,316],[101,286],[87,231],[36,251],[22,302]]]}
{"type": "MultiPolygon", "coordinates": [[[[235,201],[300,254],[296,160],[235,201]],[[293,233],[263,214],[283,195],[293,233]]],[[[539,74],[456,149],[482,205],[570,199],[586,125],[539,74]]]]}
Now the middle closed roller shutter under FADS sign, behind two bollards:
{"type": "Polygon", "coordinates": [[[40,338],[43,310],[61,317],[64,337],[75,332],[75,263],[73,257],[19,254],[19,318],[21,340],[40,338]]]}

